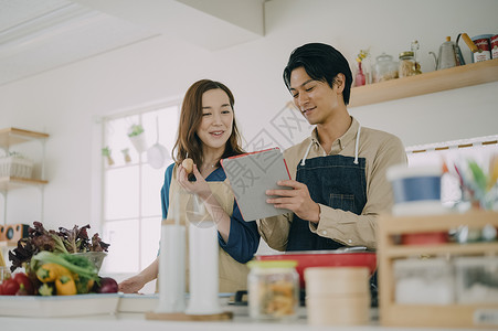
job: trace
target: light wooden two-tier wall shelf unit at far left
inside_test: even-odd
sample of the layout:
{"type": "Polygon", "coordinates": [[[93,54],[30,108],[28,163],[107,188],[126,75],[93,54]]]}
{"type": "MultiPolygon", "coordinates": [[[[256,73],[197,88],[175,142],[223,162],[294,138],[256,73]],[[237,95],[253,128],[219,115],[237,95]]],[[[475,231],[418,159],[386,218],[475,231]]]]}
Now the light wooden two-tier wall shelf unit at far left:
{"type": "MultiPolygon", "coordinates": [[[[47,183],[44,179],[44,159],[45,159],[45,139],[49,135],[42,132],[28,131],[18,128],[6,128],[0,129],[0,148],[7,153],[10,148],[15,145],[27,143],[30,141],[38,141],[41,143],[42,148],[42,169],[40,179],[27,179],[27,178],[15,178],[15,177],[0,177],[0,193],[3,194],[3,224],[7,222],[7,194],[9,191],[14,189],[21,189],[27,186],[41,188],[41,200],[42,200],[42,211],[41,216],[43,216],[43,185],[47,183]]],[[[42,217],[41,217],[42,220],[42,217]]]]}

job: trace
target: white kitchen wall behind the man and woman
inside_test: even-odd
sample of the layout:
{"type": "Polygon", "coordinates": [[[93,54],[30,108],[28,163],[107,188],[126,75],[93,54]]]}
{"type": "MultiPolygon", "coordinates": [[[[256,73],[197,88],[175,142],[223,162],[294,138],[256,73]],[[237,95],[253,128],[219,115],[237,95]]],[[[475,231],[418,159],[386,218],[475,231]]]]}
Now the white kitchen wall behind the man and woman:
{"type": "MultiPolygon", "coordinates": [[[[266,35],[209,52],[156,38],[0,87],[0,128],[21,127],[51,135],[46,142],[44,222],[47,227],[91,223],[98,231],[99,116],[181,96],[199,78],[224,82],[250,141],[262,128],[284,143],[268,121],[290,99],[282,71],[293,49],[326,42],[351,63],[360,49],[396,55],[421,43],[424,72],[428,51],[446,35],[498,33],[496,0],[272,0],[266,35]],[[474,18],[474,19],[470,19],[474,18]]],[[[199,33],[202,33],[200,31],[199,33]]],[[[466,60],[469,51],[460,43],[466,60]]],[[[401,137],[406,146],[498,134],[498,83],[351,109],[363,126],[401,137]],[[451,125],[448,125],[451,122],[451,125]]],[[[307,132],[303,131],[301,139],[307,132]]],[[[7,223],[32,223],[40,213],[33,189],[9,194],[7,223]]]]}

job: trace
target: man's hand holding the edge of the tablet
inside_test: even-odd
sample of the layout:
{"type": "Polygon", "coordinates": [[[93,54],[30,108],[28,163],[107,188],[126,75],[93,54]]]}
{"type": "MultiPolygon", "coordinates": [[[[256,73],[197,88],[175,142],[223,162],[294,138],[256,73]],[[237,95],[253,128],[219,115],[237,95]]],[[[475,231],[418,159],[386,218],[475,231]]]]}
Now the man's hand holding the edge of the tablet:
{"type": "Polygon", "coordinates": [[[278,181],[277,184],[293,190],[267,190],[266,195],[279,196],[266,199],[267,203],[272,203],[276,209],[290,210],[301,220],[318,223],[320,206],[312,201],[306,184],[293,180],[278,181]]]}

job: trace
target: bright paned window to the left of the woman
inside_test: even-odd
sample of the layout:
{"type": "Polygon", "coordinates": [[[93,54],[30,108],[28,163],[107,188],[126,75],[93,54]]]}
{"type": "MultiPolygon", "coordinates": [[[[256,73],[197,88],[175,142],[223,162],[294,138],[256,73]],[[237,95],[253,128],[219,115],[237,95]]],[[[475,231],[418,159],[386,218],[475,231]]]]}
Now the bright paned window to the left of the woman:
{"type": "Polygon", "coordinates": [[[160,190],[165,170],[172,162],[179,113],[177,100],[161,108],[104,119],[103,148],[109,152],[103,158],[102,220],[103,241],[110,247],[103,273],[136,274],[157,256],[162,218],[160,190]],[[142,152],[128,137],[133,125],[144,128],[142,152]],[[160,169],[147,162],[147,149],[156,142],[168,150],[168,160],[160,169]]]}

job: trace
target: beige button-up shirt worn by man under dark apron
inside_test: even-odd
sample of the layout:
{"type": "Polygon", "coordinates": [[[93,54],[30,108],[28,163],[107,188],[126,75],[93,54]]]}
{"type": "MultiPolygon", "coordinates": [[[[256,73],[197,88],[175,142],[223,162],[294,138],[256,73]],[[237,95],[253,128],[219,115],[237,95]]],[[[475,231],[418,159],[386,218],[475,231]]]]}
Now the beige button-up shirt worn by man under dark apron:
{"type": "MultiPolygon", "coordinates": [[[[354,157],[356,138],[360,124],[352,118],[352,124],[346,134],[332,143],[326,152],[318,142],[316,129],[303,142],[284,151],[290,178],[296,179],[297,164],[306,154],[307,159],[324,156],[354,157]]],[[[374,249],[375,227],[379,214],[391,212],[393,204],[391,183],[385,178],[389,167],[406,163],[406,152],[401,140],[388,132],[370,128],[361,128],[358,146],[358,157],[365,159],[367,204],[361,215],[320,205],[318,224],[309,222],[309,229],[319,236],[331,238],[346,246],[367,246],[374,249]]],[[[257,221],[261,236],[269,247],[285,250],[294,214],[284,214],[257,221]]]]}

